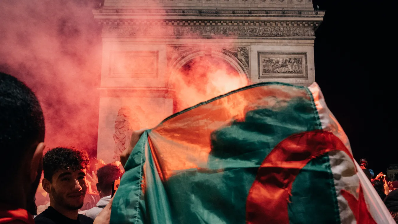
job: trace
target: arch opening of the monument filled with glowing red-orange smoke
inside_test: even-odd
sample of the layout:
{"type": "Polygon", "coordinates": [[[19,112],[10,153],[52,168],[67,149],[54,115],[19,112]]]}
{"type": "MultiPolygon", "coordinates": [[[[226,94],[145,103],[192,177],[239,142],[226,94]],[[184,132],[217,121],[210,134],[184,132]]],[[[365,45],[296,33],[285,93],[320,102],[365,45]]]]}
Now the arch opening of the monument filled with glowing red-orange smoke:
{"type": "Polygon", "coordinates": [[[193,53],[178,62],[170,77],[173,113],[244,87],[248,77],[232,60],[218,53],[193,53]]]}

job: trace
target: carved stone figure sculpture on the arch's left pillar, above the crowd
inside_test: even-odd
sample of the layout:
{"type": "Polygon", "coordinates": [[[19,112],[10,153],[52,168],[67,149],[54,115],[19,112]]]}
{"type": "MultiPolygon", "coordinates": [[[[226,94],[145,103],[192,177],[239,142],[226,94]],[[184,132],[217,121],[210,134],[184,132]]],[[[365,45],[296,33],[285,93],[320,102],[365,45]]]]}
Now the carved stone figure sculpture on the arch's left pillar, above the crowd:
{"type": "Polygon", "coordinates": [[[114,159],[118,159],[120,154],[129,147],[131,134],[142,128],[138,114],[145,114],[139,106],[135,106],[134,110],[130,107],[121,107],[117,111],[115,120],[115,134],[113,140],[115,141],[115,150],[113,154],[114,159]]]}

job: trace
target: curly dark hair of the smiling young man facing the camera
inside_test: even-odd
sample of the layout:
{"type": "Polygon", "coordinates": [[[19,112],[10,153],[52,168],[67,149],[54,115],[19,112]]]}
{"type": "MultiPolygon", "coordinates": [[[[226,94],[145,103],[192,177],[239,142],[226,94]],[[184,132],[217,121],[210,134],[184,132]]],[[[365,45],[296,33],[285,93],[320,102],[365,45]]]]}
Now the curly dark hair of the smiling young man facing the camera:
{"type": "Polygon", "coordinates": [[[54,173],[60,169],[89,169],[90,162],[86,151],[75,148],[57,147],[43,156],[44,178],[52,181],[54,173]]]}

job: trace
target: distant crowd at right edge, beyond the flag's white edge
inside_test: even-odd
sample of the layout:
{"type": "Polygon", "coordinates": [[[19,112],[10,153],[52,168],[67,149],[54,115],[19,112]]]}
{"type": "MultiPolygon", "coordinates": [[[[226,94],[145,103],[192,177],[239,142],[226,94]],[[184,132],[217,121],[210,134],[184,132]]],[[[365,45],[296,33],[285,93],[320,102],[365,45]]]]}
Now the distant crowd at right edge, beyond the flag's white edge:
{"type": "Polygon", "coordinates": [[[380,198],[383,200],[392,218],[398,223],[398,180],[388,181],[386,175],[380,172],[375,178],[373,170],[368,169],[368,162],[365,158],[359,164],[362,171],[367,175],[380,198]]]}

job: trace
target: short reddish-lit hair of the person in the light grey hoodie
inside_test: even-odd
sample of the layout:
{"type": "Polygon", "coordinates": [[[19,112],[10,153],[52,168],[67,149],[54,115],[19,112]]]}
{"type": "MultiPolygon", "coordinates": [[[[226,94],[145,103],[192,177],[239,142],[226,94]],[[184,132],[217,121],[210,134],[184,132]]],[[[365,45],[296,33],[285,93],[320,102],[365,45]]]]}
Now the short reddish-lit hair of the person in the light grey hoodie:
{"type": "Polygon", "coordinates": [[[97,170],[98,185],[102,191],[110,192],[112,190],[112,182],[119,179],[121,169],[114,164],[106,164],[97,170]]]}

